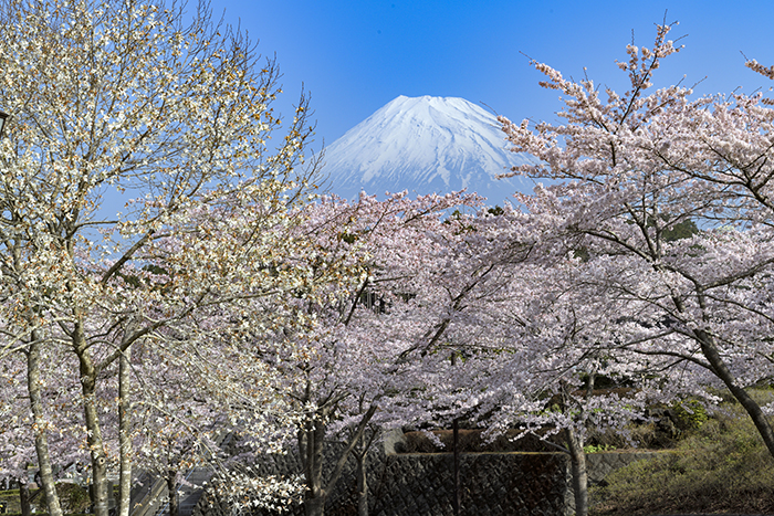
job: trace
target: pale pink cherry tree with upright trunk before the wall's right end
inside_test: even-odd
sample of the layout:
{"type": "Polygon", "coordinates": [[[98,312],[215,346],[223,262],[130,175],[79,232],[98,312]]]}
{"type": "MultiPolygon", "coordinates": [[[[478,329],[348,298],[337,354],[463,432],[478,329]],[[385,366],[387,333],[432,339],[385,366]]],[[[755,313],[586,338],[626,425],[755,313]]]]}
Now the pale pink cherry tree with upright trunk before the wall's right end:
{"type": "Polygon", "coordinates": [[[644,419],[648,406],[686,396],[714,398],[695,368],[671,367],[668,357],[610,351],[628,326],[641,320],[627,323],[620,304],[585,287],[587,263],[572,256],[554,256],[552,265],[541,262],[511,271],[501,297],[488,303],[490,320],[470,343],[475,351],[458,368],[467,370],[458,372],[462,380],[456,393],[469,407],[468,418],[484,425],[490,438],[515,428],[516,438],[537,435],[566,453],[575,512],[585,515],[584,446],[590,430],[626,433],[626,424],[644,419]],[[596,378],[628,389],[595,390],[596,378]]]}

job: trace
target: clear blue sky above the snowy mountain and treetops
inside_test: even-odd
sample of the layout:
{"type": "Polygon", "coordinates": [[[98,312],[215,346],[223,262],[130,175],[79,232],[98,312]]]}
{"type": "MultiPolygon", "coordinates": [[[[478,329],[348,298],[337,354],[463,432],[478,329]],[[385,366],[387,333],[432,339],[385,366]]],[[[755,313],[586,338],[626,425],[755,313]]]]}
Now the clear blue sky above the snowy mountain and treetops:
{"type": "MultiPolygon", "coordinates": [[[[751,93],[771,82],[744,57],[774,64],[774,1],[569,0],[211,0],[213,15],[240,24],[276,54],[291,112],[302,84],[317,120],[315,147],[330,145],[398,95],[456,96],[498,114],[555,119],[556,92],[537,85],[526,54],[579,77],[624,89],[631,42],[651,46],[655,24],[680,24],[657,86],[679,82],[698,93],[751,93]],[[523,54],[522,54],[523,53],[523,54]],[[707,78],[704,78],[707,77],[707,78]]],[[[773,95],[774,96],[774,95],[773,95]]]]}

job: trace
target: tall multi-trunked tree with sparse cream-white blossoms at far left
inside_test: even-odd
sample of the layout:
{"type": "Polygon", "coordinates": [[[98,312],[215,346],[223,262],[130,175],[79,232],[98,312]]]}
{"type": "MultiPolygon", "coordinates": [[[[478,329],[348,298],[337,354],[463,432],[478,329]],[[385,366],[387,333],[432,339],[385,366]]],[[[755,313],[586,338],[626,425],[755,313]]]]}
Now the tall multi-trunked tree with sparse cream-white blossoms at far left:
{"type": "MultiPolygon", "coordinates": [[[[203,4],[7,0],[0,19],[2,356],[27,356],[31,429],[57,516],[49,436],[62,429],[41,396],[40,357],[70,354],[59,375],[79,385],[95,514],[106,515],[117,432],[103,424],[100,396],[111,368],[200,309],[239,312],[237,299],[301,281],[303,271],[265,265],[297,244],[284,229],[305,185],[295,167],[311,134],[306,101],[269,147],[276,66],[203,4]],[[115,191],[139,201],[113,214],[115,191]]],[[[122,485],[125,512],[127,475],[122,485]]]]}

